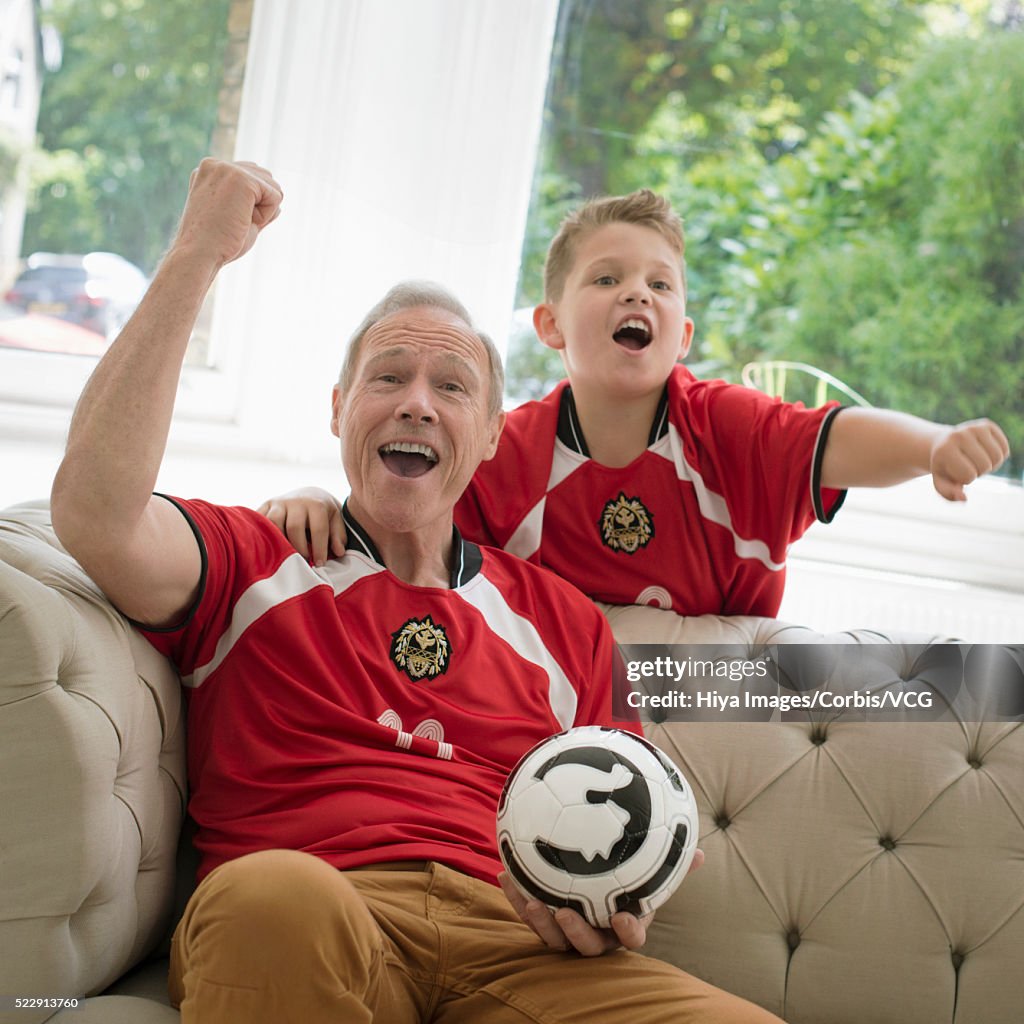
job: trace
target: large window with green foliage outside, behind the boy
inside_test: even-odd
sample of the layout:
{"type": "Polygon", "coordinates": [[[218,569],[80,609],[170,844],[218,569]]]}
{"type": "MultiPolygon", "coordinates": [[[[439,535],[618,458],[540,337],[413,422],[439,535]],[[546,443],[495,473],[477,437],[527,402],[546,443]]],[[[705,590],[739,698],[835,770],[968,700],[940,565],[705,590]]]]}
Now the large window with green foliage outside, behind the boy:
{"type": "MultiPolygon", "coordinates": [[[[517,305],[568,208],[653,188],[686,223],[695,372],[796,360],[989,416],[1020,481],[1022,29],[1004,0],[562,0],[517,305]]],[[[561,376],[528,327],[509,371],[517,396],[561,376]]]]}

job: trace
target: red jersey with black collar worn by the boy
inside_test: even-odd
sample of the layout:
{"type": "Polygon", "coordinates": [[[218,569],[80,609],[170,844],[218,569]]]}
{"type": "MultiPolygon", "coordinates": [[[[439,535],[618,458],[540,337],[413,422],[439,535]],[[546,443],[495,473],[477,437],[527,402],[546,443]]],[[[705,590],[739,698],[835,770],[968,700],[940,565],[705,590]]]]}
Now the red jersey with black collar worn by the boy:
{"type": "Polygon", "coordinates": [[[563,381],[509,414],[456,522],[595,600],[775,615],[790,545],[815,518],[830,521],[845,497],[820,484],[839,409],[699,381],[677,366],[646,451],[611,469],[590,458],[563,381]]]}

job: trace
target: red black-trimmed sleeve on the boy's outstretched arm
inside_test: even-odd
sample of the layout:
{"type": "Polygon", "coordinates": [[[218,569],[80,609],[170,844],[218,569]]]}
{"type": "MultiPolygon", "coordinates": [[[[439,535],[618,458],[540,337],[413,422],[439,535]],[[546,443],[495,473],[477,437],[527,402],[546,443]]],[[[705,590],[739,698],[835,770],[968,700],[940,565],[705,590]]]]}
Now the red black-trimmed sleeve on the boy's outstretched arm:
{"type": "Polygon", "coordinates": [[[815,519],[831,520],[846,492],[822,487],[820,474],[838,402],[807,409],[722,381],[698,383],[689,399],[693,458],[741,536],[765,541],[781,561],[815,519]]]}

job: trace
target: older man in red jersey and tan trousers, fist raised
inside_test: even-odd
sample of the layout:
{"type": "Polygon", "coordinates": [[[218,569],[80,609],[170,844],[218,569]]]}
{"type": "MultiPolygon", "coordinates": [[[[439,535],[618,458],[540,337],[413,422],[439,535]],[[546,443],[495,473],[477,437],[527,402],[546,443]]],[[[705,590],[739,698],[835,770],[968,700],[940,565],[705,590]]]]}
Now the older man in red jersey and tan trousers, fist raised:
{"type": "Polygon", "coordinates": [[[567,584],[453,526],[503,423],[500,361],[457,301],[399,287],[349,348],[343,559],[314,569],[249,510],[152,494],[203,297],[281,200],[255,165],[200,166],[52,495],[61,541],[189,688],[182,1019],[774,1020],[621,948],[644,921],[599,932],[496,885],[506,774],[552,732],[614,721],[614,652],[567,584]]]}

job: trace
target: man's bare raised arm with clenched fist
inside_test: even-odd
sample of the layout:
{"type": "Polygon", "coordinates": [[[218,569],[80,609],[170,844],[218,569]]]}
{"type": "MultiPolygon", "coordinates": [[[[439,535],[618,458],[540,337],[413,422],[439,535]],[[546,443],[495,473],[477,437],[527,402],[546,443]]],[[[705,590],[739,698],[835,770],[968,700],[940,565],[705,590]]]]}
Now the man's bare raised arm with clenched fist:
{"type": "Polygon", "coordinates": [[[191,529],[153,497],[185,349],[217,272],[252,248],[281,201],[280,185],[255,164],[200,164],[170,250],[72,418],[53,527],[108,597],[150,625],[174,623],[200,582],[191,529]]]}

